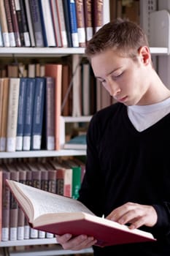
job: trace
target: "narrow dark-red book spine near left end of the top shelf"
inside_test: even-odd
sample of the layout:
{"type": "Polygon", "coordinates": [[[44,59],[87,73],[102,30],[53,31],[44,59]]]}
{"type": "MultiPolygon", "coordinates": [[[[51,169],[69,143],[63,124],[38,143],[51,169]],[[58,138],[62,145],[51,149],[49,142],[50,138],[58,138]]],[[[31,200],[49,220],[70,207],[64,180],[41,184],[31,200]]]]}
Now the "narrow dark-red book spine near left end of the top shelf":
{"type": "Polygon", "coordinates": [[[14,34],[15,34],[16,46],[20,47],[21,46],[20,31],[18,27],[18,18],[17,18],[16,9],[15,9],[15,0],[9,0],[9,6],[11,10],[12,25],[13,25],[14,34]]]}

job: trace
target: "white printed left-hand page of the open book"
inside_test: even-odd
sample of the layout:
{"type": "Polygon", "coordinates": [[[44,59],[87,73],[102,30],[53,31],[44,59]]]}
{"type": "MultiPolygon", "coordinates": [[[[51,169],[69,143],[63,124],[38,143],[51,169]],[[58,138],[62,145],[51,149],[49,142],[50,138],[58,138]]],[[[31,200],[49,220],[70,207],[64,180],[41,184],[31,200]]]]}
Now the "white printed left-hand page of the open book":
{"type": "MultiPolygon", "coordinates": [[[[55,195],[50,192],[45,192],[41,189],[29,187],[24,184],[12,181],[15,186],[31,200],[34,206],[34,219],[43,214],[50,213],[70,213],[70,212],[85,212],[94,215],[88,208],[82,203],[69,197],[63,197],[61,195],[55,195]]],[[[15,195],[17,197],[17,195],[15,195]]],[[[19,198],[18,198],[19,201],[19,198]]]]}

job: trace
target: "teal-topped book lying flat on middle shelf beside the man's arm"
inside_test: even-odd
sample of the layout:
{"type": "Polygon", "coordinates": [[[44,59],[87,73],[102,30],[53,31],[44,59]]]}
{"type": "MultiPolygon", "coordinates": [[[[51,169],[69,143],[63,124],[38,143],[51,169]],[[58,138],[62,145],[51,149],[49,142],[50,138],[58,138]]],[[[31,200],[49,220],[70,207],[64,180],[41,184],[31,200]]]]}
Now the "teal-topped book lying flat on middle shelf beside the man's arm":
{"type": "Polygon", "coordinates": [[[86,135],[77,135],[74,138],[66,141],[63,145],[64,149],[86,149],[86,135]]]}

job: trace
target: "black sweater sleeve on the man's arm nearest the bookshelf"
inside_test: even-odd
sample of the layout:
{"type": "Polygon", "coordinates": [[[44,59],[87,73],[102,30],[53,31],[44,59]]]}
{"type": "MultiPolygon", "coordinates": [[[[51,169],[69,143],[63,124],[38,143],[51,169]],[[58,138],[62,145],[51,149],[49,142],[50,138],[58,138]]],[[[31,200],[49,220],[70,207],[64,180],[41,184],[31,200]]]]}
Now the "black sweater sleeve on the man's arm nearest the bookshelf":
{"type": "Polygon", "coordinates": [[[100,140],[100,125],[96,115],[90,121],[87,133],[87,161],[85,176],[80,188],[80,200],[94,214],[101,216],[103,213],[104,184],[102,181],[100,161],[98,159],[98,140],[100,140]]]}

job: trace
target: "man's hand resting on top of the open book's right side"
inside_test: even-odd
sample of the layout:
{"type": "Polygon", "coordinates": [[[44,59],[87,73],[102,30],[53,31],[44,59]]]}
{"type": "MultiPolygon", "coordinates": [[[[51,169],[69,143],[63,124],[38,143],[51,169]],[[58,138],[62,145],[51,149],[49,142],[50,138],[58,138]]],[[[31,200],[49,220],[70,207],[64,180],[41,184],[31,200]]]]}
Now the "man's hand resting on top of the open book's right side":
{"type": "Polygon", "coordinates": [[[158,216],[155,208],[144,206],[138,203],[125,203],[123,206],[115,208],[106,219],[120,224],[130,224],[129,228],[134,229],[145,225],[152,227],[156,224],[158,216]]]}

